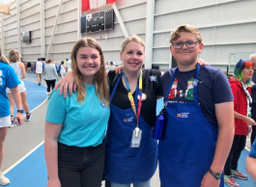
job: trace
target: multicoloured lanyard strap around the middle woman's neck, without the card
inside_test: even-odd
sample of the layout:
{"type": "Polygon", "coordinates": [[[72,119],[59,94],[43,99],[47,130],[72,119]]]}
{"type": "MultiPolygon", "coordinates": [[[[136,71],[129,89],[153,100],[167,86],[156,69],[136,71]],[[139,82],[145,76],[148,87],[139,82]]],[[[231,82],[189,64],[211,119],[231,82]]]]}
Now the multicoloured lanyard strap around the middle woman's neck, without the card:
{"type": "Polygon", "coordinates": [[[128,89],[128,99],[130,101],[130,105],[131,105],[131,108],[132,108],[132,110],[135,114],[135,117],[137,118],[137,126],[138,126],[139,115],[140,115],[140,111],[141,111],[141,107],[142,107],[142,103],[141,103],[141,99],[142,99],[142,73],[140,72],[140,75],[139,75],[139,102],[138,102],[138,113],[137,113],[138,115],[136,114],[136,107],[135,107],[135,104],[134,104],[134,99],[133,99],[133,96],[130,92],[130,88],[129,88],[129,85],[128,85],[128,79],[127,79],[127,76],[126,76],[125,73],[124,73],[124,77],[125,77],[125,81],[126,81],[126,85],[127,85],[127,89],[128,89]]]}

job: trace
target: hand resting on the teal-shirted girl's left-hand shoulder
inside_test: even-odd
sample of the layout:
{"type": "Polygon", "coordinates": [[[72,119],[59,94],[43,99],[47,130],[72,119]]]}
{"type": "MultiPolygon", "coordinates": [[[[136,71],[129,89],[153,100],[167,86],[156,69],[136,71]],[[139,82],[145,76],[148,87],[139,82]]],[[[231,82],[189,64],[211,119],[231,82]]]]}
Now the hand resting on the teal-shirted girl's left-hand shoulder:
{"type": "Polygon", "coordinates": [[[55,91],[60,87],[60,94],[64,92],[64,97],[67,97],[67,92],[69,89],[70,96],[72,95],[72,92],[76,91],[76,83],[74,82],[72,71],[69,71],[66,73],[66,75],[56,84],[55,91]]]}

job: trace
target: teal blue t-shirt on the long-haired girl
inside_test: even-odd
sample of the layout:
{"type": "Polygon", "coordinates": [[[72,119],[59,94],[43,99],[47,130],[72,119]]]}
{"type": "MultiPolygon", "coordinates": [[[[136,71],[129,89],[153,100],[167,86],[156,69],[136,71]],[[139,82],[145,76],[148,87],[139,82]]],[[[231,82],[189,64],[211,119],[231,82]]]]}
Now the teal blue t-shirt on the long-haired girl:
{"type": "Polygon", "coordinates": [[[59,142],[67,146],[97,147],[105,134],[109,106],[100,101],[95,85],[85,85],[85,89],[83,102],[77,100],[77,91],[64,98],[58,89],[49,96],[45,120],[63,123],[59,142]]]}

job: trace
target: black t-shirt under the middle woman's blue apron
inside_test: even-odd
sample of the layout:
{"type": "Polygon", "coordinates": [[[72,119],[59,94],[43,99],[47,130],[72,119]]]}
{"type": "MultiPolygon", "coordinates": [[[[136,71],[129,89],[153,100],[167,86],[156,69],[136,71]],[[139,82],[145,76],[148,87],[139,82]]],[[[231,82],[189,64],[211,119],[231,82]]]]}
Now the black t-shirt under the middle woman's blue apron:
{"type": "MultiPolygon", "coordinates": [[[[117,77],[115,79],[115,76],[116,76],[115,71],[113,70],[108,71],[110,94],[112,93],[114,89],[114,85],[118,79],[117,77]],[[113,81],[115,81],[114,84],[113,84],[113,81]]],[[[150,126],[154,126],[154,123],[156,120],[156,99],[157,99],[157,95],[159,95],[159,92],[160,92],[160,86],[159,86],[160,76],[161,76],[161,71],[159,70],[143,69],[142,93],[146,94],[147,97],[145,100],[142,101],[140,114],[150,126]]],[[[136,91],[132,94],[134,100],[135,100],[135,93],[136,91]]],[[[123,110],[131,108],[130,101],[128,99],[128,90],[124,86],[122,80],[120,80],[118,84],[116,93],[111,103],[123,110]]]]}

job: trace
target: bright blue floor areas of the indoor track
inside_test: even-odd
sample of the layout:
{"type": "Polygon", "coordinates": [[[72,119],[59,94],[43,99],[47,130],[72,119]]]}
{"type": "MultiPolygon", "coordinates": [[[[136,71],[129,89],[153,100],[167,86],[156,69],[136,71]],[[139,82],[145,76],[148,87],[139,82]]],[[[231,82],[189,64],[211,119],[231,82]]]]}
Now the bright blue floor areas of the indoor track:
{"type": "MultiPolygon", "coordinates": [[[[47,97],[46,88],[37,86],[37,83],[24,80],[27,88],[28,103],[30,109],[36,108],[47,97]]],[[[163,100],[157,100],[156,113],[163,107],[163,100]]],[[[241,159],[239,161],[239,170],[247,174],[245,171],[245,159],[248,154],[246,149],[243,149],[241,159]]],[[[47,171],[43,155],[43,146],[36,149],[22,162],[14,167],[8,174],[11,184],[9,187],[45,187],[47,185],[47,171]]],[[[237,179],[241,187],[256,187],[256,183],[249,176],[248,180],[237,179]]],[[[225,184],[225,187],[227,185],[225,184]]]]}

